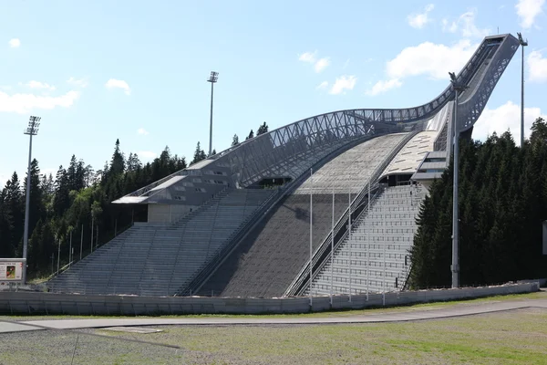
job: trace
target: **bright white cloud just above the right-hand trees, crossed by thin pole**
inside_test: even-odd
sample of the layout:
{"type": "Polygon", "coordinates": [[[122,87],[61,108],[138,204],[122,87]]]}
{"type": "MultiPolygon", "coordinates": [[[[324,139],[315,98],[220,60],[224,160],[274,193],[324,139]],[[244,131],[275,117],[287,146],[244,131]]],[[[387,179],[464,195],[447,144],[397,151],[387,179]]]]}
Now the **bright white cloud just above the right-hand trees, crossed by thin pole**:
{"type": "MultiPolygon", "coordinates": [[[[530,136],[532,123],[538,117],[547,119],[540,108],[524,108],[524,137],[530,136]]],[[[500,135],[511,130],[513,139],[521,141],[521,106],[507,101],[496,109],[485,108],[473,127],[473,138],[484,141],[494,131],[500,135]]]]}

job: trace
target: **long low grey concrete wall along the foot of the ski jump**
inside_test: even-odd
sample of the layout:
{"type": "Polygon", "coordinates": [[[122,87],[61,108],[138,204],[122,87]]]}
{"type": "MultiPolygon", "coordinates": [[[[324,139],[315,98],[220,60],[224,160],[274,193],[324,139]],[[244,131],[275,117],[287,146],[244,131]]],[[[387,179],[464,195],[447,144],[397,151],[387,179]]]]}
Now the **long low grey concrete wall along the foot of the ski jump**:
{"type": "Polygon", "coordinates": [[[229,297],[129,297],[86,296],[38,292],[0,292],[2,314],[67,314],[67,315],[122,315],[143,316],[160,314],[263,314],[305,313],[329,309],[359,309],[382,306],[401,306],[488,297],[537,291],[539,284],[523,283],[500,287],[468,287],[407,291],[382,294],[336,296],[333,305],[329,297],[278,299],[229,297]]]}

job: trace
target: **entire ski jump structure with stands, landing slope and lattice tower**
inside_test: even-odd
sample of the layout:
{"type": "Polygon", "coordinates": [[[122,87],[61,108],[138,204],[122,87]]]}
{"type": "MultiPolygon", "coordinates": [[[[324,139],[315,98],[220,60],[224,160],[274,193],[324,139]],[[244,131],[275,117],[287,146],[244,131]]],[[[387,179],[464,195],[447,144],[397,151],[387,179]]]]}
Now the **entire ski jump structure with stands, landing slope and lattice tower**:
{"type": "Polygon", "coordinates": [[[49,289],[223,297],[400,290],[419,203],[449,163],[453,125],[470,135],[518,47],[511,35],[484,38],[457,76],[469,86],[458,120],[451,85],[416,108],[321,114],[120,198],[113,203],[148,205],[148,222],[49,289]]]}

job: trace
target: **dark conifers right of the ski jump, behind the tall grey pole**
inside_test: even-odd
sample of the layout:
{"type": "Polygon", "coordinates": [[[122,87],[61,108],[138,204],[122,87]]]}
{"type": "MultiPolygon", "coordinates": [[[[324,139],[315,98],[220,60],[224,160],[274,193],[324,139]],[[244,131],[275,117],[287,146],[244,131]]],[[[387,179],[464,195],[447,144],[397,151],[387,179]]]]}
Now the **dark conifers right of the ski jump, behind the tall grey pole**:
{"type": "MultiPolygon", "coordinates": [[[[460,285],[546,277],[547,123],[535,120],[522,148],[509,131],[460,143],[460,285]]],[[[412,287],[451,284],[452,182],[450,162],[421,205],[411,250],[412,287]]]]}

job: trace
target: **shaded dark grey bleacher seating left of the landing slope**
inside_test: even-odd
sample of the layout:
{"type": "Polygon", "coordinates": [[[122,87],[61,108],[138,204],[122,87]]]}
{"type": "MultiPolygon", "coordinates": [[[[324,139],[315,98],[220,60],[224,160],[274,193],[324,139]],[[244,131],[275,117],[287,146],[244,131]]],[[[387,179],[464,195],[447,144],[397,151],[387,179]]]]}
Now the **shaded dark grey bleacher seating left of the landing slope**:
{"type": "Polygon", "coordinates": [[[66,293],[174,295],[274,193],[232,189],[176,224],[135,224],[48,287],[66,293]]]}

